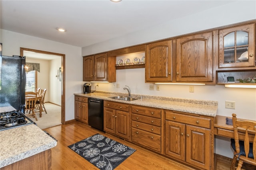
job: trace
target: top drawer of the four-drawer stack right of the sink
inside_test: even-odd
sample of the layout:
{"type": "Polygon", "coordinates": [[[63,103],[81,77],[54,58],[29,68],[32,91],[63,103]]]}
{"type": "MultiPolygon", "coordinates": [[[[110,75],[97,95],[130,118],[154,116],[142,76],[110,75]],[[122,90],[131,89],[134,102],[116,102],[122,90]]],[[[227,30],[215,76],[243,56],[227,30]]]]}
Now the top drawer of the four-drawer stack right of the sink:
{"type": "Polygon", "coordinates": [[[132,113],[161,118],[162,109],[155,109],[152,107],[132,106],[132,113]]]}

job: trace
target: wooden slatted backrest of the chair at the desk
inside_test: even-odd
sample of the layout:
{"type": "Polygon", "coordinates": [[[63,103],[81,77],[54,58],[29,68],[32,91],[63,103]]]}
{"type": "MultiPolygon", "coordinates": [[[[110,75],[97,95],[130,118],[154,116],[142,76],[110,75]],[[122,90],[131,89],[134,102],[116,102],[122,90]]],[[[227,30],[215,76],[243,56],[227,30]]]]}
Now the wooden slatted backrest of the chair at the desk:
{"type": "Polygon", "coordinates": [[[248,154],[250,150],[250,141],[251,141],[248,135],[248,131],[249,131],[250,134],[254,134],[254,138],[252,139],[253,140],[252,144],[253,144],[254,161],[256,161],[256,121],[237,120],[236,114],[232,114],[232,121],[233,121],[233,127],[234,127],[236,153],[240,152],[239,140],[244,141],[244,151],[246,154],[246,158],[248,158],[248,154]],[[245,129],[244,140],[239,139],[238,127],[245,129]]]}

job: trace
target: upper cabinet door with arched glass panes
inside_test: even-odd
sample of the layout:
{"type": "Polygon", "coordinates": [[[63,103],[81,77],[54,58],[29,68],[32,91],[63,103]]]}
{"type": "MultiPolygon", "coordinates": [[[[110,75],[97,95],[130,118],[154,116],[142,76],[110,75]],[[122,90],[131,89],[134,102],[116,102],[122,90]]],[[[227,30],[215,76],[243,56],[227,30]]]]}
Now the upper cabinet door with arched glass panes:
{"type": "Polygon", "coordinates": [[[219,31],[219,68],[255,66],[255,25],[219,31]]]}

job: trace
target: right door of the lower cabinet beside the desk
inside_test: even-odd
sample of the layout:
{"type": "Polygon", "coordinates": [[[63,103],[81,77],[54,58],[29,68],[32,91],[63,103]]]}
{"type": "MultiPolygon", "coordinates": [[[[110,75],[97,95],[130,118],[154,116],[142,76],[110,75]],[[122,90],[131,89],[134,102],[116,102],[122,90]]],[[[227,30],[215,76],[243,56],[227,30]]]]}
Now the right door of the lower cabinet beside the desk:
{"type": "Polygon", "coordinates": [[[186,162],[210,169],[210,129],[186,125],[186,162]]]}

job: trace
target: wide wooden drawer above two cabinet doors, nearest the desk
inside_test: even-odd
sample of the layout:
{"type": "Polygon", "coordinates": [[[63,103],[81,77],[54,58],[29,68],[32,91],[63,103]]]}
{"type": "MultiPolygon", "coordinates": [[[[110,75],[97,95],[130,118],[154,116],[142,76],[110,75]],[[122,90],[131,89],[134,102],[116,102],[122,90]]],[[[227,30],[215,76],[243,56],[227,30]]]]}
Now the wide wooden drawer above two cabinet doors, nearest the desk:
{"type": "Polygon", "coordinates": [[[209,129],[211,128],[210,118],[173,113],[172,111],[166,111],[166,120],[177,121],[180,123],[186,123],[189,125],[195,125],[195,126],[205,127],[209,129]]]}

